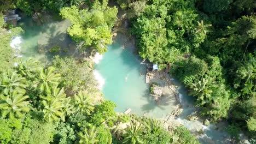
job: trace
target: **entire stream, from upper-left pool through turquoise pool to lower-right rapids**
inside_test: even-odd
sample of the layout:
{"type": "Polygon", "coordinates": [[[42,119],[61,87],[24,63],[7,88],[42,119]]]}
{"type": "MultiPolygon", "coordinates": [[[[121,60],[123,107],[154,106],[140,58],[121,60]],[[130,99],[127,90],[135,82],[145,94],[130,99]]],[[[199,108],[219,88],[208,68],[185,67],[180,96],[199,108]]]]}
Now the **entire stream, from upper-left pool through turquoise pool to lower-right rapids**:
{"type": "MultiPolygon", "coordinates": [[[[18,23],[25,33],[13,38],[11,47],[15,49],[15,55],[27,59],[33,57],[42,62],[48,63],[54,55],[73,55],[75,44],[66,33],[70,23],[64,21],[49,21],[38,26],[30,17],[22,18],[18,23]],[[60,46],[61,51],[50,53],[53,46],[60,46]]],[[[112,45],[108,45],[108,51],[103,56],[95,56],[94,74],[100,83],[99,88],[104,93],[107,100],[112,100],[117,104],[116,111],[124,112],[130,108],[136,115],[146,115],[154,118],[164,118],[176,107],[174,99],[164,99],[156,104],[149,95],[149,86],[145,80],[146,66],[141,63],[141,59],[134,54],[134,47],[129,41],[118,37],[114,39],[112,45]]],[[[175,119],[185,125],[191,132],[199,127],[203,134],[199,136],[202,143],[229,143],[228,135],[223,129],[224,124],[206,127],[199,121],[190,122],[186,119],[188,115],[195,111],[194,99],[187,95],[187,90],[181,83],[172,79],[177,86],[182,114],[175,119]]]]}

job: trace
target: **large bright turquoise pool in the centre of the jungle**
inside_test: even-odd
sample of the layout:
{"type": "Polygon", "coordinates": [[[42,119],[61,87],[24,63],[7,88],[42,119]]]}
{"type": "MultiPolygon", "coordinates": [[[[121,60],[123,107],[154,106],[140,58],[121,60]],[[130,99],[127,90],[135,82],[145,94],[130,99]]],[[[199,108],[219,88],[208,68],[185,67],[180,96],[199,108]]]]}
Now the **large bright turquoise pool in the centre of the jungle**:
{"type": "MultiPolygon", "coordinates": [[[[164,117],[173,110],[171,104],[156,104],[149,95],[146,83],[146,65],[135,56],[130,47],[123,45],[123,40],[115,39],[104,53],[96,70],[105,83],[102,88],[106,99],[117,104],[116,111],[124,112],[130,108],[132,113],[150,117],[164,117]],[[124,49],[125,48],[125,49],[124,49]]],[[[165,101],[164,101],[165,102],[165,101]]]]}

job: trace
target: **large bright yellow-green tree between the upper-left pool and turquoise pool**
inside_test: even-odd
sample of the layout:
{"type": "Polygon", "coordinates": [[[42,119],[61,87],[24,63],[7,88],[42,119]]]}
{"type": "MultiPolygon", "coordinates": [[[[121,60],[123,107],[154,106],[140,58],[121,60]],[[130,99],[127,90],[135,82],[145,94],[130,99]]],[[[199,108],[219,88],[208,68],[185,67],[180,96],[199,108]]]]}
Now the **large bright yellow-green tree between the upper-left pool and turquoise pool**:
{"type": "Polygon", "coordinates": [[[75,6],[61,9],[61,16],[72,23],[67,32],[75,42],[80,43],[80,50],[90,46],[104,53],[107,44],[112,43],[111,28],[117,19],[118,10],[107,4],[108,1],[103,0],[102,4],[95,1],[91,9],[79,10],[75,6]]]}

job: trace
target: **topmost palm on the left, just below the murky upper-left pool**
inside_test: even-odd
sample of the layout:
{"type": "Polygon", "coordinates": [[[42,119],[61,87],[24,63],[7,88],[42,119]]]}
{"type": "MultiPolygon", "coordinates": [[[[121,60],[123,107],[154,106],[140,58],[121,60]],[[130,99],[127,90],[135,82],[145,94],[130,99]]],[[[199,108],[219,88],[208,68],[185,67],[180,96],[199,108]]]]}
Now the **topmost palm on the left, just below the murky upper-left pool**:
{"type": "Polygon", "coordinates": [[[38,61],[30,58],[27,59],[26,62],[23,62],[22,60],[19,61],[16,69],[18,70],[18,74],[31,79],[35,77],[38,70],[40,70],[39,64],[38,61]]]}

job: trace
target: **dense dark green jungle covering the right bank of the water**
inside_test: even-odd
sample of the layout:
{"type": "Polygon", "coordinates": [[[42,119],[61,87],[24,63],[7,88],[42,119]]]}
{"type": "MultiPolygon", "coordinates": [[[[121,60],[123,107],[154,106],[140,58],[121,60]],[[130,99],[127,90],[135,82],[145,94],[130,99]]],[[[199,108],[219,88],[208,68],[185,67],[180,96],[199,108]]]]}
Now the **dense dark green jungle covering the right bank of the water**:
{"type": "Polygon", "coordinates": [[[255,1],[118,2],[139,13],[130,22],[142,58],[171,65],[201,115],[255,135],[255,1]]]}

